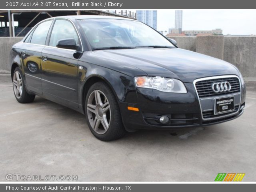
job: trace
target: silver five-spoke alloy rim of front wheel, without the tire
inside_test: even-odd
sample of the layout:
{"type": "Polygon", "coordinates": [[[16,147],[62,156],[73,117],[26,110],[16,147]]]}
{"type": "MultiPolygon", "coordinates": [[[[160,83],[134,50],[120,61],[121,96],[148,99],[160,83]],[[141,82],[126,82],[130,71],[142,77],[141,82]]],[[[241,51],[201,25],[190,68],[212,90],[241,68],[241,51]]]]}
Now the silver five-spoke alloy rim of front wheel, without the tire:
{"type": "Polygon", "coordinates": [[[111,111],[106,95],[100,90],[94,90],[87,102],[87,115],[92,129],[98,134],[108,131],[111,111]]]}

